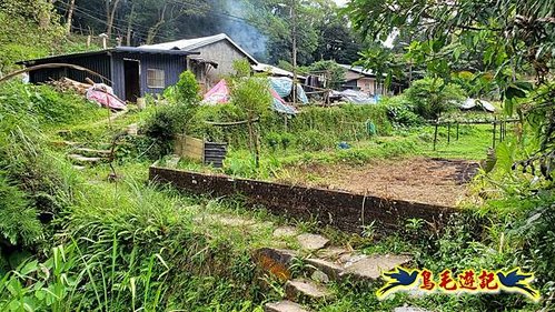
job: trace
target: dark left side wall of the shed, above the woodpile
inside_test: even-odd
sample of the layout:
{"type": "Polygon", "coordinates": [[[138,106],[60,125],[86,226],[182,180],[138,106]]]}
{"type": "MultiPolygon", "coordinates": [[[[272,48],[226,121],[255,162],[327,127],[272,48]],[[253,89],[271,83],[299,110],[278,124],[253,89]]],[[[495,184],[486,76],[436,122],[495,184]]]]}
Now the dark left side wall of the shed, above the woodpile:
{"type": "MultiPolygon", "coordinates": [[[[70,63],[90,69],[99,74],[111,79],[111,68],[110,68],[110,57],[109,56],[86,56],[86,57],[67,57],[56,60],[43,60],[38,61],[34,64],[43,63],[70,63]]],[[[54,68],[54,69],[41,69],[32,71],[29,74],[29,81],[31,83],[43,83],[51,80],[59,80],[60,78],[69,78],[79,82],[85,82],[86,78],[92,79],[92,81],[100,83],[105,82],[110,84],[108,81],[102,81],[100,78],[87,73],[85,71],[79,71],[69,68],[54,68]]]]}

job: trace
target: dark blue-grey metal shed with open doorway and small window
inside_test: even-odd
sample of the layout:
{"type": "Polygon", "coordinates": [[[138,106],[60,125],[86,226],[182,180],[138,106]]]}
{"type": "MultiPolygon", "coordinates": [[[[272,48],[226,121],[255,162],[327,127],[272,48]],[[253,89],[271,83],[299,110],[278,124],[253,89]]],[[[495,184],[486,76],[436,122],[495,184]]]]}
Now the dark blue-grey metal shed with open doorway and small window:
{"type": "Polygon", "coordinates": [[[72,53],[21,61],[26,67],[44,63],[70,63],[80,66],[106,77],[110,81],[87,72],[69,69],[39,69],[29,73],[29,81],[42,83],[62,77],[85,82],[86,78],[103,82],[113,88],[120,99],[135,102],[145,94],[161,93],[167,87],[179,80],[179,74],[187,70],[187,56],[198,52],[180,50],[158,50],[131,47],[118,47],[100,51],[72,53]]]}

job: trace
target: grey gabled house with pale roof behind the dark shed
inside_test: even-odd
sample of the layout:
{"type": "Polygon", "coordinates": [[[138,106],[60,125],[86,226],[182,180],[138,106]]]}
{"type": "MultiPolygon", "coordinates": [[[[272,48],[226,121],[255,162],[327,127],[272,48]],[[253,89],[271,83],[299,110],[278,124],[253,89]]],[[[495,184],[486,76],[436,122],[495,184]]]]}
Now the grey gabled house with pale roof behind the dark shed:
{"type": "Polygon", "coordinates": [[[141,46],[141,49],[198,53],[188,57],[188,68],[195,73],[204,91],[218,83],[224,76],[232,73],[232,66],[236,60],[247,59],[251,64],[258,64],[255,58],[225,33],[141,46]]]}

